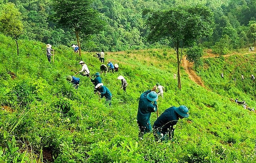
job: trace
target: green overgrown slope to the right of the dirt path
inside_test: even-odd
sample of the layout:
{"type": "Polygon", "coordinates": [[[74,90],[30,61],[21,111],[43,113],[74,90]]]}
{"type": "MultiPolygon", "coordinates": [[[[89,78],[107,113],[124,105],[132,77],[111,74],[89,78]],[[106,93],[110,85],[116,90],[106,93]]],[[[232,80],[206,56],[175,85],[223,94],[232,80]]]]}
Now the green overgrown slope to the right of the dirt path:
{"type": "Polygon", "coordinates": [[[204,58],[204,66],[198,68],[197,72],[214,92],[228,98],[245,100],[249,106],[255,107],[256,84],[251,79],[251,75],[256,72],[255,62],[253,52],[244,55],[235,53],[225,58],[204,58]],[[223,79],[220,77],[222,72],[223,79]],[[241,75],[244,75],[244,80],[241,75]]]}

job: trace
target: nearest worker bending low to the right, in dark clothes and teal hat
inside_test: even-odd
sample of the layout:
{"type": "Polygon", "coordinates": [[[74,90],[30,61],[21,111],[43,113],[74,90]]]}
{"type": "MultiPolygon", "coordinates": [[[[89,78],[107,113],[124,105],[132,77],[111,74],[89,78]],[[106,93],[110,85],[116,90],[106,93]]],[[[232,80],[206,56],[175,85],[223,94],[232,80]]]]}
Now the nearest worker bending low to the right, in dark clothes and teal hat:
{"type": "Polygon", "coordinates": [[[153,125],[156,141],[173,140],[174,129],[179,119],[188,118],[188,107],[169,107],[155,121],[153,125]]]}

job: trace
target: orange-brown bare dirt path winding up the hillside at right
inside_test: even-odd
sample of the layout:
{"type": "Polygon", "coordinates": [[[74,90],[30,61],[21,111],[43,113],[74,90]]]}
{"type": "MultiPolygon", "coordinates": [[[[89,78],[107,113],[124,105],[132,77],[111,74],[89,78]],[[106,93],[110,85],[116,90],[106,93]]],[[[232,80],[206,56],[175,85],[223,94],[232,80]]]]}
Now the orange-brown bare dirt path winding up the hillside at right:
{"type": "MultiPolygon", "coordinates": [[[[224,55],[223,57],[229,57],[229,56],[233,56],[233,55],[237,55],[237,54],[239,54],[239,53],[227,54],[227,55],[224,55]]],[[[250,54],[250,53],[243,53],[242,55],[246,55],[246,54],[250,54]]],[[[218,55],[212,54],[211,50],[207,51],[207,56],[203,56],[203,58],[213,58],[213,57],[218,57],[218,55]]],[[[184,67],[185,71],[187,72],[189,79],[191,79],[193,82],[195,82],[199,86],[206,88],[204,86],[204,83],[203,83],[201,77],[198,76],[196,74],[196,72],[193,70],[193,62],[189,62],[188,60],[186,60],[185,56],[182,58],[181,62],[182,62],[181,65],[182,65],[182,67],[184,67]]]]}

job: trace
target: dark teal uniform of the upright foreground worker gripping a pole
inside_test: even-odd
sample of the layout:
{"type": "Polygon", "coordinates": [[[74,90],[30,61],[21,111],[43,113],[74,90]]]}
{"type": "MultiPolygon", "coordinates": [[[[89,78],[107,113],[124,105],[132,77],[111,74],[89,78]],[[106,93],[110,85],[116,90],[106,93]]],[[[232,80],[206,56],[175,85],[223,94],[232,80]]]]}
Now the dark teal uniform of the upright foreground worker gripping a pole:
{"type": "Polygon", "coordinates": [[[142,126],[146,127],[148,130],[152,129],[150,125],[151,112],[157,111],[157,101],[154,101],[154,103],[152,104],[152,102],[147,99],[147,94],[149,94],[150,92],[151,90],[147,90],[140,95],[137,113],[137,120],[142,126]]]}

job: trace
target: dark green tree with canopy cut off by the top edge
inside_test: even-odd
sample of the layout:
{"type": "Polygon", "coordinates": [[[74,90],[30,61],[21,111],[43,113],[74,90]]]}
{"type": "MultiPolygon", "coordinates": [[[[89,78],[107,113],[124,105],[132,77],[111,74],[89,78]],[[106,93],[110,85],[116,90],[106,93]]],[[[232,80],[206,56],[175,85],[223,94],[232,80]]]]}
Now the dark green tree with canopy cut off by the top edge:
{"type": "Polygon", "coordinates": [[[53,0],[52,19],[74,30],[79,46],[79,56],[81,56],[80,37],[89,38],[104,27],[99,12],[94,10],[91,4],[92,0],[53,0]]]}

